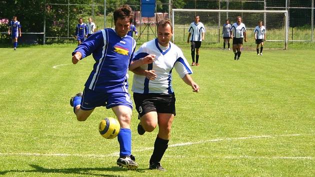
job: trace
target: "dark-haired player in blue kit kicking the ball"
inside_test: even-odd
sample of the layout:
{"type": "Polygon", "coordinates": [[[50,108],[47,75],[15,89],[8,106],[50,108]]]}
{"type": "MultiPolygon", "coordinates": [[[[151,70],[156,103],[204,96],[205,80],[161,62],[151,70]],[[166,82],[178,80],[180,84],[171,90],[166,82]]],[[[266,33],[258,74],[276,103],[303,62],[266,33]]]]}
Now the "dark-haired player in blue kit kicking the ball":
{"type": "Polygon", "coordinates": [[[133,19],[132,9],[123,5],[113,12],[113,18],[115,28],[95,32],[72,52],[73,64],[90,54],[93,55],[95,63],[83,92],[73,96],[70,105],[73,106],[79,121],[85,121],[95,107],[106,106],[107,109],[112,109],[120,124],[120,132],[117,135],[120,153],[116,163],[132,170],[136,169],[138,164],[131,155],[132,101],[128,93],[127,71],[129,66],[137,67],[145,62],[142,59],[131,63],[135,40],[126,34],[133,19]]]}

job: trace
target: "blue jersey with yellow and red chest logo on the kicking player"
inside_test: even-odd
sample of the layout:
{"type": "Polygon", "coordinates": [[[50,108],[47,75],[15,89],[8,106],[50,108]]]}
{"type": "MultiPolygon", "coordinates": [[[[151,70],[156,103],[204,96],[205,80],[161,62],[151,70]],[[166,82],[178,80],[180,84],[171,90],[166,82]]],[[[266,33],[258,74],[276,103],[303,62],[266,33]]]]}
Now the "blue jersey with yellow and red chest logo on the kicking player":
{"type": "Polygon", "coordinates": [[[133,57],[135,40],[120,37],[112,28],[105,28],[79,44],[72,55],[79,51],[82,58],[92,53],[95,63],[85,82],[85,87],[100,92],[127,92],[128,66],[133,57]]]}

